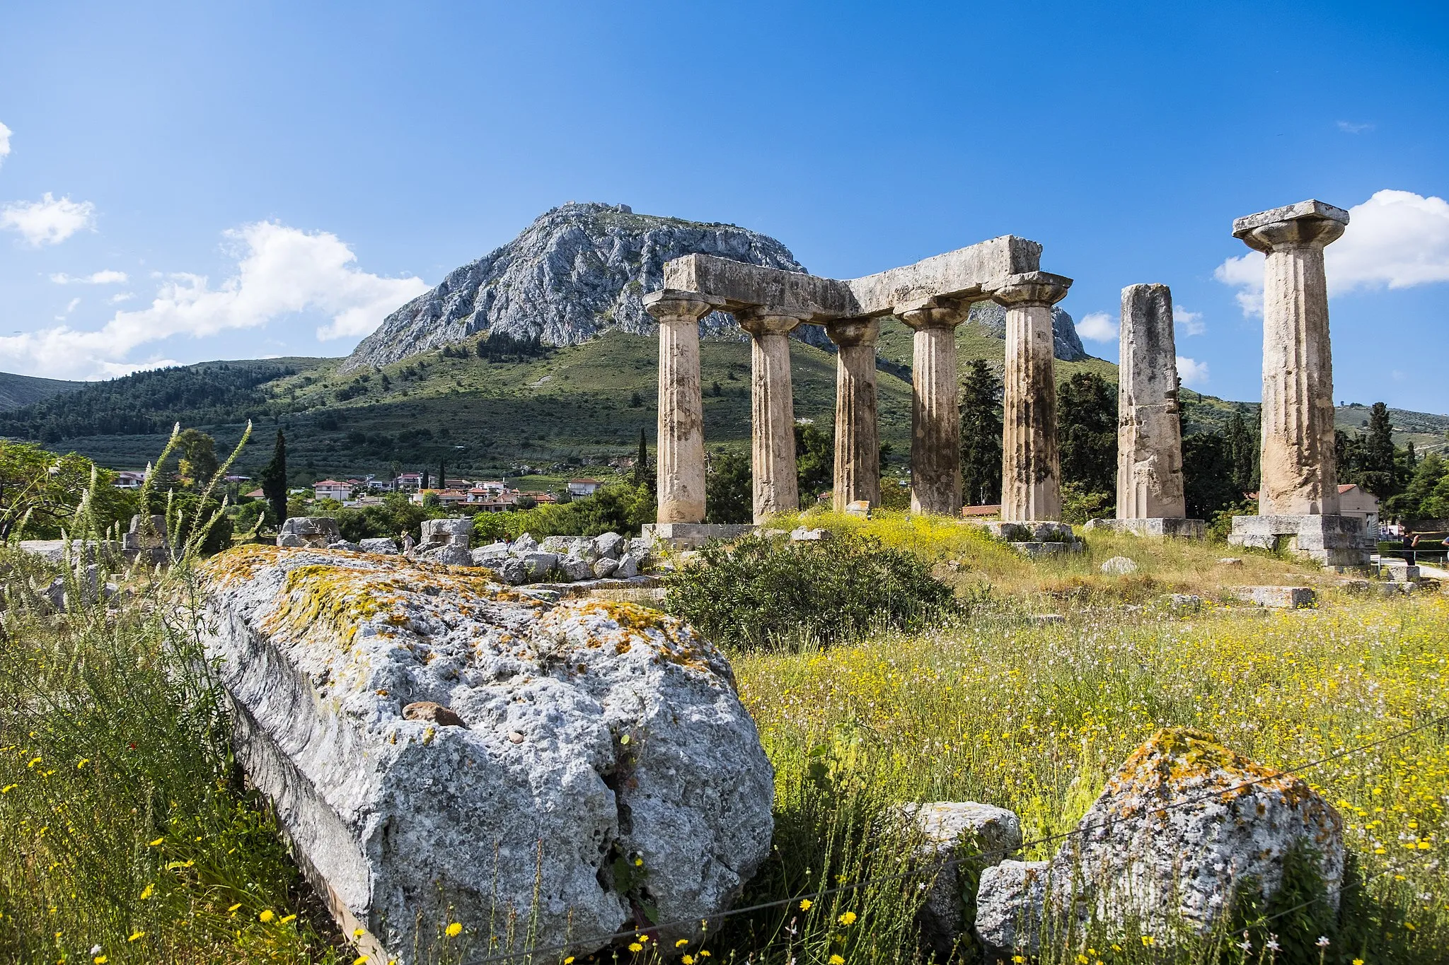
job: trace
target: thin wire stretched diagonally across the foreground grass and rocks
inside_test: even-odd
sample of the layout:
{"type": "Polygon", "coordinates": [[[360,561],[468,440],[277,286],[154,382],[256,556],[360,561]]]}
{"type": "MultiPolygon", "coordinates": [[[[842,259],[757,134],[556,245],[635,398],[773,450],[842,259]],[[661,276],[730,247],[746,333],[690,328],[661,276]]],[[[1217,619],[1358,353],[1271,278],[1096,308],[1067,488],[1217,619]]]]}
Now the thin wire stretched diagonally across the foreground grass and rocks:
{"type": "MultiPolygon", "coordinates": [[[[1177,803],[1172,803],[1172,804],[1164,804],[1162,807],[1153,809],[1153,813],[1161,815],[1161,813],[1169,812],[1169,810],[1179,810],[1182,807],[1191,807],[1194,804],[1203,804],[1203,803],[1211,802],[1214,797],[1222,797],[1224,794],[1232,794],[1235,791],[1243,790],[1245,787],[1253,787],[1253,786],[1262,784],[1265,781],[1274,781],[1274,780],[1278,780],[1278,778],[1281,778],[1284,775],[1291,775],[1295,771],[1307,771],[1307,770],[1311,770],[1314,767],[1321,767],[1324,764],[1332,764],[1333,761],[1342,760],[1345,757],[1352,757],[1353,754],[1362,754],[1364,751],[1371,751],[1371,749],[1374,749],[1377,747],[1382,747],[1385,744],[1392,744],[1395,741],[1401,741],[1401,739],[1404,739],[1404,738],[1407,738],[1410,735],[1419,734],[1420,731],[1427,731],[1429,728],[1439,726],[1442,723],[1449,723],[1449,713],[1446,713],[1443,716],[1439,716],[1439,718],[1432,718],[1432,719],[1426,720],[1424,723],[1420,723],[1417,726],[1408,728],[1407,731],[1398,731],[1397,734],[1391,734],[1391,735],[1388,735],[1385,738],[1379,738],[1378,741],[1369,741],[1368,744],[1361,744],[1358,747],[1346,748],[1343,751],[1336,751],[1333,754],[1329,754],[1327,757],[1320,757],[1320,758],[1317,758],[1314,761],[1306,761],[1303,764],[1294,764],[1294,765],[1287,767],[1282,771],[1278,771],[1275,774],[1265,774],[1262,777],[1255,777],[1250,781],[1242,781],[1240,784],[1235,784],[1233,787],[1227,787],[1227,788],[1217,790],[1217,791],[1210,791],[1207,794],[1200,794],[1200,796],[1195,796],[1195,797],[1187,797],[1187,799],[1184,799],[1181,802],[1177,802],[1177,803]]],[[[727,911],[719,911],[716,914],[709,916],[709,920],[719,922],[719,920],[723,920],[723,919],[735,917],[738,914],[749,914],[752,911],[764,911],[767,909],[784,907],[784,906],[790,906],[790,904],[794,904],[797,901],[804,901],[804,900],[816,901],[819,898],[827,898],[827,897],[830,897],[833,894],[840,894],[842,891],[853,891],[855,888],[864,888],[864,887],[868,887],[868,885],[872,885],[872,884],[881,884],[881,883],[885,883],[885,881],[898,881],[901,878],[920,878],[920,877],[924,877],[926,874],[938,875],[942,871],[945,871],[948,868],[953,868],[958,864],[962,864],[962,862],[966,862],[966,861],[980,861],[982,858],[1006,858],[1010,854],[1014,854],[1017,851],[1024,851],[1027,848],[1035,848],[1036,845],[1052,843],[1053,841],[1062,841],[1065,838],[1074,838],[1077,835],[1085,835],[1085,833],[1090,833],[1093,830],[1104,830],[1104,829],[1111,828],[1113,825],[1116,825],[1116,823],[1119,823],[1122,820],[1126,820],[1126,819],[1122,819],[1122,817],[1119,817],[1119,819],[1108,819],[1106,822],[1100,822],[1100,823],[1095,823],[1095,825],[1087,825],[1085,828],[1084,826],[1077,826],[1077,828],[1074,828],[1071,830],[1058,832],[1055,835],[1045,835],[1042,838],[1036,838],[1035,841],[1023,842],[1020,845],[1020,848],[998,848],[995,851],[984,851],[984,852],[974,854],[974,855],[966,855],[966,856],[962,856],[962,858],[953,858],[951,861],[943,861],[943,862],[940,862],[938,865],[933,865],[929,871],[926,871],[926,870],[922,870],[922,871],[903,871],[903,872],[897,872],[897,874],[881,875],[878,878],[867,878],[865,881],[852,881],[851,884],[842,884],[842,885],[838,885],[838,887],[833,887],[833,888],[823,888],[823,890],[819,890],[819,891],[807,891],[807,893],[803,893],[803,894],[793,896],[790,898],[775,898],[772,901],[762,901],[759,904],[752,904],[752,906],[748,906],[748,907],[743,907],[743,909],[729,909],[727,911]]],[[[1311,904],[1311,901],[1308,901],[1307,904],[1311,904]]],[[[1288,909],[1288,911],[1295,911],[1295,910],[1297,909],[1288,909]]],[[[1281,911],[1275,917],[1281,917],[1282,914],[1288,914],[1288,911],[1281,911]]],[[[629,929],[627,932],[614,932],[611,935],[603,935],[603,936],[587,939],[587,940],[588,940],[588,943],[601,942],[604,945],[609,945],[609,943],[613,943],[613,942],[617,942],[617,940],[622,940],[622,939],[626,939],[626,938],[635,938],[636,935],[640,935],[645,930],[659,932],[659,930],[672,929],[672,927],[677,927],[677,926],[691,926],[693,927],[694,922],[697,922],[697,920],[700,920],[700,919],[693,919],[691,917],[691,919],[675,919],[674,922],[662,922],[662,923],[658,923],[658,924],[651,923],[648,926],[648,929],[629,929]]],[[[551,955],[551,953],[555,953],[555,952],[567,952],[567,951],[569,951],[571,948],[575,948],[580,943],[582,943],[582,942],[569,942],[568,945],[552,945],[552,946],[546,946],[546,948],[532,948],[532,949],[522,951],[522,952],[503,952],[503,953],[498,953],[498,955],[488,955],[487,958],[468,959],[462,965],[491,965],[491,962],[504,962],[504,961],[511,961],[511,959],[516,959],[516,958],[527,958],[530,955],[551,955]]]]}

